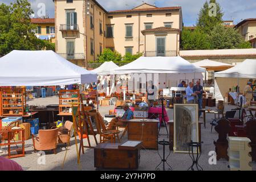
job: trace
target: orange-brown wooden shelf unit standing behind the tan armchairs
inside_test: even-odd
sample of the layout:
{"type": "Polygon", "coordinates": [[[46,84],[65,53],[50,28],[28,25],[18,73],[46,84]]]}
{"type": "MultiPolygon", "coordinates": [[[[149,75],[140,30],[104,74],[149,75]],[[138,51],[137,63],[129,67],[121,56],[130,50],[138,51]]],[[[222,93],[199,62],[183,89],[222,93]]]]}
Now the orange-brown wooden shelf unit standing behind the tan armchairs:
{"type": "Polygon", "coordinates": [[[79,90],[59,90],[59,115],[72,115],[72,104],[78,106],[79,90]]]}

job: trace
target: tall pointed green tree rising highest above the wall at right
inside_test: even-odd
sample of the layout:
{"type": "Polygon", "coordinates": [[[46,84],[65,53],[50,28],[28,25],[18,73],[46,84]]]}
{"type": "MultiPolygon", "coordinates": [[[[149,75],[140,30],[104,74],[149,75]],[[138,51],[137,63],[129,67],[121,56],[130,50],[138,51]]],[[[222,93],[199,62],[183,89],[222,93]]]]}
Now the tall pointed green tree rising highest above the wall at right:
{"type": "Polygon", "coordinates": [[[217,24],[222,24],[223,15],[224,13],[222,13],[221,6],[216,2],[216,0],[210,0],[209,3],[206,1],[198,15],[197,27],[199,27],[200,30],[206,34],[210,34],[210,32],[217,24]],[[211,3],[216,5],[216,12],[214,12],[215,7],[209,6],[212,5],[211,3]]]}

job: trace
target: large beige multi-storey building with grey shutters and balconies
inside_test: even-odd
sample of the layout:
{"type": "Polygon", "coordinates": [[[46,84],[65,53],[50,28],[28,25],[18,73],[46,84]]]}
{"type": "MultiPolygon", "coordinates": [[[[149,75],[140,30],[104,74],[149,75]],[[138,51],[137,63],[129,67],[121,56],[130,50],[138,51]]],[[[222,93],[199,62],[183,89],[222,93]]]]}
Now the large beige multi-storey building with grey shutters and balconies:
{"type": "Polygon", "coordinates": [[[176,56],[180,50],[181,7],[143,3],[107,11],[95,0],[55,0],[56,52],[86,67],[104,48],[145,56],[176,56]]]}

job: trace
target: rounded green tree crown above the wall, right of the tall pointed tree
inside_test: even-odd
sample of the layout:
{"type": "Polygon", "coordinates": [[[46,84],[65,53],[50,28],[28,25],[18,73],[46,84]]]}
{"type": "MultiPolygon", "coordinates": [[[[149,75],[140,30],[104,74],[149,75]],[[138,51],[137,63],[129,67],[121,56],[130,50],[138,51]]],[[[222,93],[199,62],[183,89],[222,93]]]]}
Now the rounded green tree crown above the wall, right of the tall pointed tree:
{"type": "Polygon", "coordinates": [[[237,30],[222,24],[213,28],[210,39],[214,49],[251,48],[250,44],[243,41],[237,30]]]}

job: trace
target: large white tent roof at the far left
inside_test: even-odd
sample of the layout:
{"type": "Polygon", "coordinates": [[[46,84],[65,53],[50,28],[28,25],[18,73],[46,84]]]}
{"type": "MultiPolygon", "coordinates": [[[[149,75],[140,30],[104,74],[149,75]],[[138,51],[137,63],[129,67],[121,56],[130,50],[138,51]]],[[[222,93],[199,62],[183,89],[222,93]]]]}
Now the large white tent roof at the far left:
{"type": "Polygon", "coordinates": [[[47,86],[97,81],[97,74],[53,51],[11,51],[0,58],[0,86],[47,86]]]}

